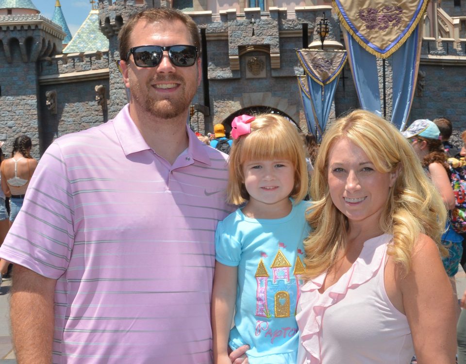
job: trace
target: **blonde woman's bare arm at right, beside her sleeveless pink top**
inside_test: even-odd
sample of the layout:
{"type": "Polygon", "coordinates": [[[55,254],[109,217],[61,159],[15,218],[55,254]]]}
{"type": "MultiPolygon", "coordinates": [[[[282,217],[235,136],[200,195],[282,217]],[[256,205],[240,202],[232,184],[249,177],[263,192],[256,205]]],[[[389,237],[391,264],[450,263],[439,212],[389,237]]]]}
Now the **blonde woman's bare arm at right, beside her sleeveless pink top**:
{"type": "Polygon", "coordinates": [[[419,363],[454,363],[457,298],[431,238],[419,236],[411,271],[398,280],[419,363]]]}

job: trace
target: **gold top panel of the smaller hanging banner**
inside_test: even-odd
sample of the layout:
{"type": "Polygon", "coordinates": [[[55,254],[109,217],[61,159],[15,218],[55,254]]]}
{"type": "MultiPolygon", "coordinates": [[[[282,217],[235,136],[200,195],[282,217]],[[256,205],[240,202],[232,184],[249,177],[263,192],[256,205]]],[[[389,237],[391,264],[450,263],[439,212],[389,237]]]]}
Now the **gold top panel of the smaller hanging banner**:
{"type": "Polygon", "coordinates": [[[347,61],[346,50],[297,50],[306,74],[321,86],[338,77],[347,61]]]}

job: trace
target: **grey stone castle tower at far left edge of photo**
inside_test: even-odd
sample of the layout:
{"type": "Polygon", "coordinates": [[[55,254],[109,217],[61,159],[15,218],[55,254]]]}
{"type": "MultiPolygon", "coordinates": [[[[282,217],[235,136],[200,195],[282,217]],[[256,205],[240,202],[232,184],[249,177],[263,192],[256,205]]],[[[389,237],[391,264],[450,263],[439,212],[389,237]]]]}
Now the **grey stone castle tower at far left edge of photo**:
{"type": "MultiPolygon", "coordinates": [[[[11,150],[26,133],[39,145],[38,60],[62,51],[66,34],[31,0],[0,0],[0,140],[11,150]]],[[[39,148],[32,150],[39,155],[39,148]]]]}

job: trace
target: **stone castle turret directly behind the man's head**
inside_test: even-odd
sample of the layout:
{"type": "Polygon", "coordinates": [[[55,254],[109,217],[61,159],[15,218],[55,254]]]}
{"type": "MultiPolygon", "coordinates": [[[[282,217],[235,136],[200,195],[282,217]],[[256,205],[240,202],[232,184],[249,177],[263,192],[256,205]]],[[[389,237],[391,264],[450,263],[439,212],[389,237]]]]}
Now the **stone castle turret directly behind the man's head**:
{"type": "Polygon", "coordinates": [[[109,40],[109,83],[110,99],[108,116],[113,118],[128,102],[117,62],[121,55],[118,51],[118,32],[133,15],[147,8],[166,7],[166,0],[99,0],[100,31],[109,40]]]}

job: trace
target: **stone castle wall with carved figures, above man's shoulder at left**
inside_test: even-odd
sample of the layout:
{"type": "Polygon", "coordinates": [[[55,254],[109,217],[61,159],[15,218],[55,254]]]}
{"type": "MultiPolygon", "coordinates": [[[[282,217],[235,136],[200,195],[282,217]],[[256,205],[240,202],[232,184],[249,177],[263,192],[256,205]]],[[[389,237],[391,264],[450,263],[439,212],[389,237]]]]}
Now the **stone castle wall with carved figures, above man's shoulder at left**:
{"type": "Polygon", "coordinates": [[[57,137],[97,126],[113,117],[109,117],[108,108],[111,104],[108,52],[46,57],[40,60],[39,69],[40,154],[57,137]],[[105,86],[106,110],[96,100],[98,85],[105,86]],[[52,90],[56,93],[56,114],[46,105],[46,93],[52,90]]]}

